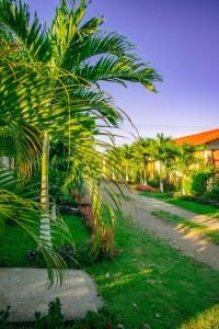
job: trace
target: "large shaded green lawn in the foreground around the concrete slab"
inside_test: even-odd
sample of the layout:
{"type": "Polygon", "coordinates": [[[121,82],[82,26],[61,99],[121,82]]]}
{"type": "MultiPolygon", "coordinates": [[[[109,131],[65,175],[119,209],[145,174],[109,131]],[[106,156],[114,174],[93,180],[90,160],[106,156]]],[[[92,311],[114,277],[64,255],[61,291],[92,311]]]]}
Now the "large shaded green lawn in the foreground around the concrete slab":
{"type": "MultiPolygon", "coordinates": [[[[65,219],[79,248],[87,246],[84,223],[71,216],[65,219]]],[[[24,266],[26,251],[33,247],[20,227],[7,227],[0,256],[3,251],[9,265],[24,266]]],[[[146,328],[143,324],[152,329],[219,328],[218,272],[129,222],[118,224],[116,248],[123,253],[85,270],[95,280],[105,307],[125,329],[146,328]]]]}

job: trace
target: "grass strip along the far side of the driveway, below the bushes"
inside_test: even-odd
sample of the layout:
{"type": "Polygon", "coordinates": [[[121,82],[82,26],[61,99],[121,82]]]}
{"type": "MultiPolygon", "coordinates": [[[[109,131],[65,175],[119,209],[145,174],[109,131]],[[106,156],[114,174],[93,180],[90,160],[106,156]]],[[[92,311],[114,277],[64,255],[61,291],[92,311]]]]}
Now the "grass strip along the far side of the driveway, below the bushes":
{"type": "Polygon", "coordinates": [[[174,204],[175,206],[184,208],[186,211],[191,211],[199,215],[208,215],[211,217],[219,218],[219,209],[210,205],[200,204],[194,201],[185,201],[185,200],[170,197],[165,193],[140,192],[140,195],[148,196],[148,197],[157,197],[163,202],[174,204]]]}

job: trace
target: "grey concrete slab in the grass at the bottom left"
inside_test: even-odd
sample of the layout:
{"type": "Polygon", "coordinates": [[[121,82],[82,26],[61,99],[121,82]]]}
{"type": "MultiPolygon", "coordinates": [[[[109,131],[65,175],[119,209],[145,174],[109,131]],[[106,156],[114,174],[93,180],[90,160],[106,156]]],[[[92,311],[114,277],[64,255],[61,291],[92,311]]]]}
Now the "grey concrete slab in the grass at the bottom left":
{"type": "Polygon", "coordinates": [[[47,288],[47,271],[0,269],[0,309],[9,305],[10,321],[32,321],[35,311],[47,314],[48,303],[60,298],[66,320],[96,311],[102,300],[91,277],[83,271],[68,271],[64,284],[47,288]]]}

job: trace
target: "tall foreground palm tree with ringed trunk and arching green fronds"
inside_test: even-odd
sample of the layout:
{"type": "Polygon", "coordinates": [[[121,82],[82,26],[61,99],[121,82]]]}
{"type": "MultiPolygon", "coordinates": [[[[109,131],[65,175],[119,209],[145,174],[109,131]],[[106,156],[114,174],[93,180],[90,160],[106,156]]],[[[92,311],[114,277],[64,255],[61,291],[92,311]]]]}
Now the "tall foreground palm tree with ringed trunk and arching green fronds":
{"type": "Polygon", "coordinates": [[[43,232],[42,237],[46,238],[48,245],[50,245],[47,179],[49,139],[55,136],[62,139],[69,145],[69,154],[74,154],[82,166],[88,168],[82,159],[84,152],[81,146],[85,147],[87,139],[99,134],[96,127],[103,127],[95,124],[96,120],[104,118],[104,127],[107,128],[111,125],[117,126],[123,117],[111,98],[100,90],[99,83],[140,82],[149,90],[155,91],[153,82],[160,80],[152,68],[140,63],[132,54],[134,46],[127,38],[117,33],[100,32],[103,18],[92,18],[83,23],[87,9],[85,0],[81,0],[78,7],[73,5],[71,9],[68,8],[67,1],[62,0],[56,9],[50,27],[43,29],[36,15],[31,23],[30,9],[25,3],[21,1],[11,3],[8,0],[0,3],[1,37],[20,48],[18,55],[20,60],[35,68],[38,73],[47,76],[45,90],[48,93],[56,90],[56,99],[51,101],[47,98],[47,102],[41,106],[38,113],[46,118],[46,124],[37,125],[44,137],[42,155],[44,215],[41,226],[46,232],[43,232]],[[92,129],[85,124],[90,121],[89,117],[93,117],[94,121],[92,129]]]}

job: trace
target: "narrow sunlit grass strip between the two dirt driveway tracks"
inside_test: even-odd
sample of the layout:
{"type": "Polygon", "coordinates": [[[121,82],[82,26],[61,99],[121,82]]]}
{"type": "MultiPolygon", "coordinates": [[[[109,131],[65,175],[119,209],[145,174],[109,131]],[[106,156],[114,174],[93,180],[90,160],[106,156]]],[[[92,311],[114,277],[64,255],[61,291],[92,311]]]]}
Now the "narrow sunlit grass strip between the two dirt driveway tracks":
{"type": "Polygon", "coordinates": [[[165,222],[172,224],[180,224],[181,227],[188,228],[189,230],[204,235],[209,241],[214,242],[215,245],[219,245],[219,231],[209,229],[204,224],[195,223],[193,220],[182,218],[181,216],[164,211],[154,211],[151,212],[151,215],[153,215],[158,219],[164,219],[165,222]]]}

